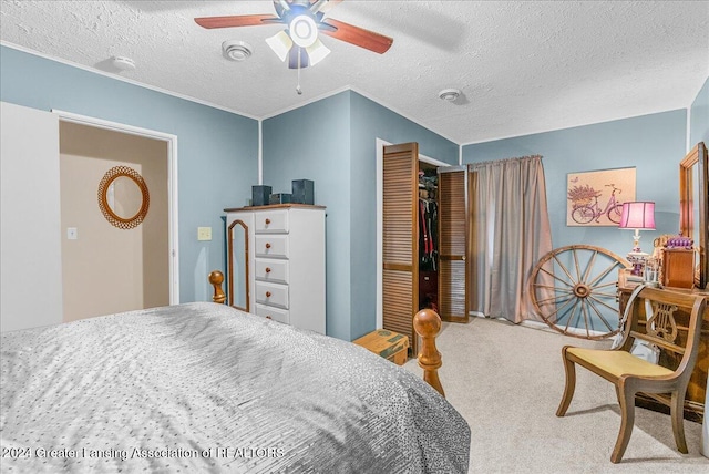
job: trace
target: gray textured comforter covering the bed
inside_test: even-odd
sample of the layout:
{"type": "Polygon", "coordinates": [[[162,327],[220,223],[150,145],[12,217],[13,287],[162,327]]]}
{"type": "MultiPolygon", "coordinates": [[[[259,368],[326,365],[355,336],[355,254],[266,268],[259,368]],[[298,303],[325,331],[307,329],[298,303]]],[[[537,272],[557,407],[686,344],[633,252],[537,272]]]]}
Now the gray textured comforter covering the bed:
{"type": "Polygon", "coordinates": [[[214,303],[2,334],[2,472],[464,473],[470,429],[354,344],[214,303]]]}

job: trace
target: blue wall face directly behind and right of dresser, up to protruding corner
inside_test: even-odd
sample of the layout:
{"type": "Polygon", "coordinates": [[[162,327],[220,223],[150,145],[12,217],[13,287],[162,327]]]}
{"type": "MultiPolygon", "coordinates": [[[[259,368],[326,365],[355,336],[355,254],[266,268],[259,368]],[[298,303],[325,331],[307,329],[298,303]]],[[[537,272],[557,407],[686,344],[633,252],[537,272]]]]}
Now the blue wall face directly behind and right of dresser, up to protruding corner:
{"type": "Polygon", "coordinates": [[[264,184],[290,193],[292,179],[315,182],[326,212],[327,333],[349,340],[350,100],[343,92],[263,123],[264,184]]]}

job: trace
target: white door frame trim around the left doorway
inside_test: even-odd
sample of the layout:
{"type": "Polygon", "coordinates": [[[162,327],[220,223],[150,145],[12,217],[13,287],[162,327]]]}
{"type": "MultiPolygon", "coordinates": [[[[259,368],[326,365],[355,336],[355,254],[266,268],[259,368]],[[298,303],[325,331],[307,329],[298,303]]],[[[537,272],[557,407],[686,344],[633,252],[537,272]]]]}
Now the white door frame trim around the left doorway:
{"type": "Polygon", "coordinates": [[[52,113],[59,115],[60,122],[70,122],[79,125],[104,128],[113,132],[137,135],[145,138],[160,140],[167,143],[167,235],[169,251],[169,303],[179,303],[179,254],[177,224],[177,135],[157,132],[150,128],[111,122],[88,115],[75,114],[56,109],[52,113]]]}

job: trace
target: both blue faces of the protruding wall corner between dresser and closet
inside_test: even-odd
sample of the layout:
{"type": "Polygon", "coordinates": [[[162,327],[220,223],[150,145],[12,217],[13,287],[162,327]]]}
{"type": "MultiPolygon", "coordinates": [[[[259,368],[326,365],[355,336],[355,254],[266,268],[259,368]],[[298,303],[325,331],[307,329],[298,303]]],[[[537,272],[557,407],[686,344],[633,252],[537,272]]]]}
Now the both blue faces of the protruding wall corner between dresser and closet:
{"type": "Polygon", "coordinates": [[[458,163],[458,145],[351,91],[264,121],[264,184],[290,190],[315,181],[327,206],[327,333],[345,340],[376,329],[376,140],[418,142],[458,163]]]}

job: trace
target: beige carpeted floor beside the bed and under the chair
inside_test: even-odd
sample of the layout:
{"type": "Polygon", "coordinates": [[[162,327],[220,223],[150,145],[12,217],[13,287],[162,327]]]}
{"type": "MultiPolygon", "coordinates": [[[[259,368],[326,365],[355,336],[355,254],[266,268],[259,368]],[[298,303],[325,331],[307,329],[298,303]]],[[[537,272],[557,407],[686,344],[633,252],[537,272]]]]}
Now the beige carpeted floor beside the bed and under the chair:
{"type": "MultiPolygon", "coordinates": [[[[564,344],[609,342],[484,318],[443,324],[439,373],[471,427],[470,473],[709,473],[701,424],[685,421],[689,454],[680,454],[669,416],[644,409],[636,409],[623,463],[612,464],[620,426],[615,389],[583,368],[566,416],[557,418],[564,344]]],[[[415,359],[404,367],[421,374],[415,359]]]]}

